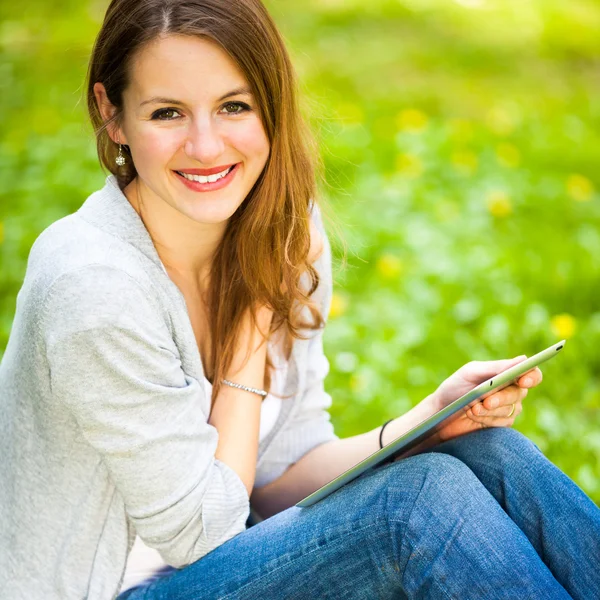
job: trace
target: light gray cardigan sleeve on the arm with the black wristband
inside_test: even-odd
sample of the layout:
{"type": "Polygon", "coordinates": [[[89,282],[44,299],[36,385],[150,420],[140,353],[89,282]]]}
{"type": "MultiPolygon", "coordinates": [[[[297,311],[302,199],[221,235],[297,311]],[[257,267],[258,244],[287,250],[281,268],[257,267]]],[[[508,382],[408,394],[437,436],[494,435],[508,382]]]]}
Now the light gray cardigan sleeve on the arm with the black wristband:
{"type": "MultiPolygon", "coordinates": [[[[327,321],[333,292],[331,245],[317,204],[313,204],[312,219],[323,239],[323,252],[314,264],[319,273],[315,300],[327,321]]],[[[298,408],[265,453],[256,472],[254,484],[257,488],[275,481],[316,446],[339,439],[329,414],[332,398],[325,391],[325,378],[330,367],[323,350],[323,332],[324,327],[316,333],[313,331],[307,342],[304,386],[300,391],[298,408]]]]}

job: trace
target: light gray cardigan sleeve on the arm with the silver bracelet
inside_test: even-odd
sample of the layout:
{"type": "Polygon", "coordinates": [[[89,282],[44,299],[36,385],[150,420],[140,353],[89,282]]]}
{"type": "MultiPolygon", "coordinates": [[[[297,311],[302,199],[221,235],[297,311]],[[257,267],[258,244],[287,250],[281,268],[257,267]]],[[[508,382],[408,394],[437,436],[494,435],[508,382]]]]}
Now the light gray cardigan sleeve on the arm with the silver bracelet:
{"type": "Polygon", "coordinates": [[[186,566],[245,530],[246,487],[215,458],[200,382],[153,294],[118,268],[62,275],[41,327],[51,393],[106,465],[138,535],[186,566]]]}

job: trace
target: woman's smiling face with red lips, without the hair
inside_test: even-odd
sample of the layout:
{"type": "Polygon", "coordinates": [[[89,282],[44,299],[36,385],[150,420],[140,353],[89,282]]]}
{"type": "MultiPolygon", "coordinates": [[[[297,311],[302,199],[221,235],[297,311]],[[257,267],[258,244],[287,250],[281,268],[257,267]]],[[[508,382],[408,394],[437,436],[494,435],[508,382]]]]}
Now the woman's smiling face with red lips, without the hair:
{"type": "Polygon", "coordinates": [[[211,41],[169,36],[134,57],[130,77],[116,141],[130,147],[142,200],[153,194],[201,223],[229,219],[269,156],[258,106],[236,64],[211,41]],[[221,176],[232,165],[207,181],[208,171],[221,176]]]}

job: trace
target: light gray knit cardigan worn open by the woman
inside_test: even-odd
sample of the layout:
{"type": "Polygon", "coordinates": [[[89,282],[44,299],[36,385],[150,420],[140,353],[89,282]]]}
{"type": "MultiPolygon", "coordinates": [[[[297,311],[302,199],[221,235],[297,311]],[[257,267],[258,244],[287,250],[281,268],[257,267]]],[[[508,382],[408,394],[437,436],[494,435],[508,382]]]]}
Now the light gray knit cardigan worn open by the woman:
{"type": "MultiPolygon", "coordinates": [[[[311,214],[326,317],[331,248],[311,214]]],[[[312,334],[294,344],[284,393],[297,393],[260,442],[257,487],[337,439],[312,334]]],[[[245,530],[248,493],[215,459],[185,300],[112,175],[31,249],[0,400],[3,600],[112,599],[136,532],[181,568],[245,530]]]]}

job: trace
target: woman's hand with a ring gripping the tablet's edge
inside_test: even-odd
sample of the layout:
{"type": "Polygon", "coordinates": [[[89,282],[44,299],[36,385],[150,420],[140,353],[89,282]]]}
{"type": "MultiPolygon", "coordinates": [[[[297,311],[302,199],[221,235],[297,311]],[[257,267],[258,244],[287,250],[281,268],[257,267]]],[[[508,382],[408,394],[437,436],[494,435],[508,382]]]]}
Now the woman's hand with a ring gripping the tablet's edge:
{"type": "MultiPolygon", "coordinates": [[[[508,360],[467,363],[446,379],[434,392],[438,409],[445,408],[486,379],[523,362],[526,358],[527,356],[523,355],[508,360]]],[[[435,437],[442,442],[486,427],[512,427],[516,417],[523,410],[522,400],[527,396],[528,389],[539,385],[541,381],[542,371],[539,367],[535,367],[521,375],[516,384],[498,390],[470,408],[465,407],[460,416],[439,429],[434,434],[435,437]],[[515,409],[508,417],[512,410],[512,404],[515,405],[515,409]]]]}

